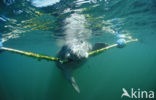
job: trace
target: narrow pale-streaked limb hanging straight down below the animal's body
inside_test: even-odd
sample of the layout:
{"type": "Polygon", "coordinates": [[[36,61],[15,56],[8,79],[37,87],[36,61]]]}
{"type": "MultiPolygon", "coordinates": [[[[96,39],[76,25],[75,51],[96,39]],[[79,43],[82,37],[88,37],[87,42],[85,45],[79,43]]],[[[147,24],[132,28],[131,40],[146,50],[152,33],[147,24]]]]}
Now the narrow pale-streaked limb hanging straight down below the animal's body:
{"type": "Polygon", "coordinates": [[[69,81],[69,83],[72,85],[72,87],[74,88],[74,90],[77,92],[77,93],[80,93],[80,89],[79,89],[79,86],[77,85],[76,81],[75,81],[75,78],[68,72],[64,72],[65,74],[65,77],[67,78],[67,80],[69,81]]]}

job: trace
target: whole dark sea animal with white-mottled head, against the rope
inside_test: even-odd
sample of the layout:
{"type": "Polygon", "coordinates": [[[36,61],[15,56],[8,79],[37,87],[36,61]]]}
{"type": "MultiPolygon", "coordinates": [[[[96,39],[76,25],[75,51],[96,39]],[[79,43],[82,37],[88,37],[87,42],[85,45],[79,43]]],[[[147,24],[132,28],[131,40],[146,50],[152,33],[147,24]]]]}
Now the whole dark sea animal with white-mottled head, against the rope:
{"type": "Polygon", "coordinates": [[[57,57],[60,59],[68,59],[68,62],[57,62],[56,65],[62,70],[65,78],[68,80],[68,82],[76,92],[80,93],[80,89],[75,81],[75,78],[72,76],[72,71],[86,62],[89,56],[89,51],[104,48],[106,46],[108,46],[108,44],[106,43],[96,43],[92,48],[90,43],[82,40],[77,40],[76,42],[72,41],[66,43],[58,52],[57,57]]]}

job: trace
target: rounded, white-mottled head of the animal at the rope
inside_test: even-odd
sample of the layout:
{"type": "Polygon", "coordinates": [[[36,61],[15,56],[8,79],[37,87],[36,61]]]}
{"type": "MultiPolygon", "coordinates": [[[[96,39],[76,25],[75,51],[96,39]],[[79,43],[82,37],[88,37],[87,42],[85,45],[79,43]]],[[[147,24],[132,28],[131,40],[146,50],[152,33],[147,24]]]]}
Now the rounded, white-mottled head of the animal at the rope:
{"type": "Polygon", "coordinates": [[[63,59],[70,59],[73,61],[88,58],[88,52],[91,49],[91,45],[82,40],[73,39],[66,42],[60,51],[60,56],[63,59]]]}

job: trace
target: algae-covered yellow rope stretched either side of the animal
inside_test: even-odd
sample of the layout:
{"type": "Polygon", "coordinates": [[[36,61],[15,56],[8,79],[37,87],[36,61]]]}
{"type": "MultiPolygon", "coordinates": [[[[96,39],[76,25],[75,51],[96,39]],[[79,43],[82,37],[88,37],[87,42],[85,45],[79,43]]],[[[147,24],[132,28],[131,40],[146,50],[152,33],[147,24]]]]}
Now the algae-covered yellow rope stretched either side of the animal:
{"type": "MultiPolygon", "coordinates": [[[[137,39],[132,39],[132,40],[126,41],[126,44],[129,43],[129,42],[135,42],[135,41],[138,41],[138,40],[137,39]]],[[[107,49],[116,47],[117,45],[118,44],[113,44],[113,45],[107,46],[107,47],[102,48],[102,49],[91,51],[91,52],[89,52],[89,56],[101,53],[101,52],[103,52],[103,51],[105,51],[107,49]]],[[[45,59],[45,60],[48,60],[48,61],[56,61],[56,62],[61,62],[61,63],[68,62],[68,59],[60,59],[60,58],[57,58],[57,57],[45,56],[45,55],[35,54],[35,53],[32,53],[32,52],[25,52],[25,51],[21,51],[21,50],[6,48],[6,47],[1,47],[1,49],[6,50],[6,51],[10,51],[10,52],[14,52],[14,53],[19,53],[19,54],[26,55],[26,56],[30,56],[30,57],[35,57],[37,59],[45,59]]]]}

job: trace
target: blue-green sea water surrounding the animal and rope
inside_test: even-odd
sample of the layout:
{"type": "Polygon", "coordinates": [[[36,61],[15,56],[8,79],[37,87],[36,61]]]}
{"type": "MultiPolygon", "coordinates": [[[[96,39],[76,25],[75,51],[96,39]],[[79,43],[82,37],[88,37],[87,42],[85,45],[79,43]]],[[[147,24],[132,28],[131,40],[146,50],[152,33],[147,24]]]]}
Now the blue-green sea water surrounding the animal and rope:
{"type": "Polygon", "coordinates": [[[74,39],[138,39],[73,70],[80,93],[55,62],[2,51],[0,100],[122,100],[131,99],[121,98],[123,88],[156,92],[156,0],[1,0],[0,33],[4,47],[52,57],[74,39]]]}

